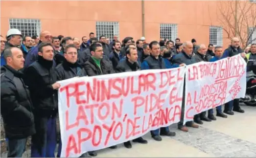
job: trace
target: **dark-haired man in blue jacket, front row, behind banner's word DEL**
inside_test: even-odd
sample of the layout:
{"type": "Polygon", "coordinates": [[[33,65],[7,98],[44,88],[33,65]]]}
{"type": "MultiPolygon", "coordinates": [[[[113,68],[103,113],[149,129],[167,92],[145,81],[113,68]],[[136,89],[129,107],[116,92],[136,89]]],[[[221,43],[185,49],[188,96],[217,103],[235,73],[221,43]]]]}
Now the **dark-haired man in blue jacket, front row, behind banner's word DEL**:
{"type": "MultiPolygon", "coordinates": [[[[160,55],[160,45],[157,41],[152,41],[149,44],[149,48],[151,50],[150,56],[144,59],[144,61],[141,64],[141,69],[164,69],[165,62],[163,58],[160,55]]],[[[151,136],[156,141],[161,141],[162,137],[160,135],[166,135],[166,136],[175,136],[175,132],[170,132],[169,127],[162,127],[157,130],[151,131],[151,136]],[[160,133],[159,133],[160,132],[160,133]]]]}

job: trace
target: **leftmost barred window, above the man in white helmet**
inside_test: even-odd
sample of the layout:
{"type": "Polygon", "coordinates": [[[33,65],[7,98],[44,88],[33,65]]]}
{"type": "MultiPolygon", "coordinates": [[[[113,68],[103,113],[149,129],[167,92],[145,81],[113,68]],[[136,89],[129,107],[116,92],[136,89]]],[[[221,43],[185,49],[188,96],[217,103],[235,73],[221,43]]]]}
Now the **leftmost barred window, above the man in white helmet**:
{"type": "Polygon", "coordinates": [[[41,20],[38,19],[9,19],[9,28],[17,28],[23,36],[39,36],[41,20]]]}

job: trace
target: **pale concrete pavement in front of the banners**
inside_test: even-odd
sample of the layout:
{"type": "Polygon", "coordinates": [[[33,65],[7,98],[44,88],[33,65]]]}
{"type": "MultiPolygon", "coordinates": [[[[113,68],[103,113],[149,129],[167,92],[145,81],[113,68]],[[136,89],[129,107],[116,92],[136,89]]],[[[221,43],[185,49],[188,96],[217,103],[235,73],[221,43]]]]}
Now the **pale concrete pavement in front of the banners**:
{"type": "MultiPolygon", "coordinates": [[[[143,138],[148,144],[132,143],[132,149],[119,144],[117,149],[97,151],[97,157],[256,157],[256,107],[241,108],[245,113],[204,121],[199,129],[189,128],[187,133],[177,130],[176,124],[171,125],[170,130],[176,132],[174,137],[163,136],[157,142],[147,134],[143,138]]],[[[30,150],[23,157],[30,157],[30,150]]]]}

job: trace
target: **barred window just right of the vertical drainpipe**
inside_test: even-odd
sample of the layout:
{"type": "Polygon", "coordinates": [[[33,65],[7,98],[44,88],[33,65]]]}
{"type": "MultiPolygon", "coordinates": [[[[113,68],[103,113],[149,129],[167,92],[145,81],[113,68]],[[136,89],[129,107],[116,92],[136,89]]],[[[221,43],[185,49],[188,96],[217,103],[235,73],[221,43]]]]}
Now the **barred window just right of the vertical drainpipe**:
{"type": "Polygon", "coordinates": [[[161,23],[160,24],[160,38],[175,41],[178,37],[177,24],[161,23]]]}

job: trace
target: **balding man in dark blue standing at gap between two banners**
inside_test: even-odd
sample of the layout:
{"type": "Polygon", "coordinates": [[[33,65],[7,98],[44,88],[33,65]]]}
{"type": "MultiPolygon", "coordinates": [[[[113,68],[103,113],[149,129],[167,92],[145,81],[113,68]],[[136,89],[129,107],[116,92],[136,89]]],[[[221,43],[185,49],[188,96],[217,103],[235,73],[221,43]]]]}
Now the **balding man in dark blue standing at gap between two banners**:
{"type": "MultiPolygon", "coordinates": [[[[186,65],[190,65],[190,64],[194,64],[196,63],[195,59],[192,58],[192,51],[193,51],[193,44],[189,41],[183,43],[183,50],[181,53],[175,55],[175,57],[173,58],[173,64],[186,64],[186,65]]],[[[193,121],[188,121],[186,122],[186,126],[183,125],[183,121],[184,121],[184,113],[185,113],[185,87],[186,87],[186,82],[184,82],[184,87],[183,87],[183,100],[182,100],[182,113],[181,113],[181,121],[178,123],[178,129],[187,132],[188,129],[186,126],[188,127],[192,127],[192,128],[198,128],[199,126],[196,125],[193,121]]]]}

